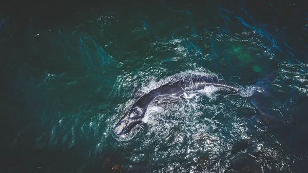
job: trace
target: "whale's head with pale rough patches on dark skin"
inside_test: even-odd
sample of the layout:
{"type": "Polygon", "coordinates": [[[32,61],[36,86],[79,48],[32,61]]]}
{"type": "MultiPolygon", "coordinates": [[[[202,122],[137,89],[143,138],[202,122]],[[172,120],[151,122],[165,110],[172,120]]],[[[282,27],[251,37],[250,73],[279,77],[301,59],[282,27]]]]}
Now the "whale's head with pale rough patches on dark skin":
{"type": "Polygon", "coordinates": [[[142,122],[144,113],[144,110],[140,106],[133,105],[122,119],[115,124],[113,129],[114,133],[118,136],[128,133],[134,126],[142,122]]]}

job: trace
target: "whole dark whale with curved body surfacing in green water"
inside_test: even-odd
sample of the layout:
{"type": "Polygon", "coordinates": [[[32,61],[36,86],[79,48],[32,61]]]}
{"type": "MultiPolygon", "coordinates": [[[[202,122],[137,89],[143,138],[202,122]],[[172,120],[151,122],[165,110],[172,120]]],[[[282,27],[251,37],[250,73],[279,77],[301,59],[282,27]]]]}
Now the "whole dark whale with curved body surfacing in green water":
{"type": "Polygon", "coordinates": [[[199,91],[208,86],[217,87],[218,90],[226,91],[226,94],[236,94],[239,88],[230,86],[209,75],[193,74],[171,79],[166,84],[144,94],[129,110],[120,121],[114,126],[114,133],[117,136],[125,136],[136,125],[142,123],[145,112],[152,100],[159,96],[179,96],[189,91],[199,91]]]}

